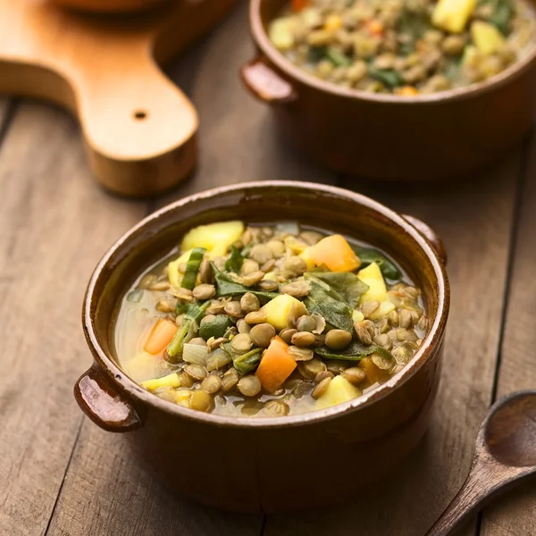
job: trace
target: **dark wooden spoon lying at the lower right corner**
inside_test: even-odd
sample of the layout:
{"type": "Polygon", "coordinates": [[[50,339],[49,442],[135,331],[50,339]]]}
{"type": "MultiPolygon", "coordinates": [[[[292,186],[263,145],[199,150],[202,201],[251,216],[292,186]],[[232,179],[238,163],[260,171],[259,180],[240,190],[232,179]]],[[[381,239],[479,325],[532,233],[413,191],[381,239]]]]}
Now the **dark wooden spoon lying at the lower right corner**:
{"type": "Polygon", "coordinates": [[[464,486],[426,536],[446,536],[492,498],[536,474],[536,390],[507,395],[491,406],[476,437],[464,486]]]}

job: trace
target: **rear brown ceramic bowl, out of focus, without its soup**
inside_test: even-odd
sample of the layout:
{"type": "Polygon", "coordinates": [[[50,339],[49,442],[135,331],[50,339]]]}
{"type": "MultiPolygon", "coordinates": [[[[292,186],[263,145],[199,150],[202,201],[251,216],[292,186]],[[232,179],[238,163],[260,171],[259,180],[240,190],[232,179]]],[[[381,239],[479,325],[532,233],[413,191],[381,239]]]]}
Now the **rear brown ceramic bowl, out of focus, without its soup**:
{"type": "Polygon", "coordinates": [[[470,172],[515,147],[532,128],[536,45],[491,80],[432,95],[341,88],[289,62],[266,27],[288,0],[251,0],[258,50],[242,68],[247,88],[272,111],[285,138],[339,172],[429,179],[470,172]]]}

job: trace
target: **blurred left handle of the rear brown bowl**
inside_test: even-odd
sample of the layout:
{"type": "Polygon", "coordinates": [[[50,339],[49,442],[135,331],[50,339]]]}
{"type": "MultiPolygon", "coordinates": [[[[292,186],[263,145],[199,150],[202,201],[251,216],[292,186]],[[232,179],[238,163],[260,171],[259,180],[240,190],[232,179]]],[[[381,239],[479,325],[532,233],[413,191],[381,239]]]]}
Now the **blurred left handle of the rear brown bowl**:
{"type": "Polygon", "coordinates": [[[296,89],[268,66],[263,56],[242,65],[240,77],[258,99],[275,104],[290,103],[297,99],[296,89]]]}

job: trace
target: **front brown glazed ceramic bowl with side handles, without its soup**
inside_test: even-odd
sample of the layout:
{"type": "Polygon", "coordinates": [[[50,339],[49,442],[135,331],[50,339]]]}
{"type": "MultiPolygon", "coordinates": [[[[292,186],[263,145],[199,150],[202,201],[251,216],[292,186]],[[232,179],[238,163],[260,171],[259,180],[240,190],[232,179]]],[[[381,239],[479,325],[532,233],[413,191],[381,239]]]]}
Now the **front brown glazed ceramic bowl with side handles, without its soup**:
{"type": "Polygon", "coordinates": [[[186,197],[138,223],[96,267],[83,312],[95,362],[77,382],[75,397],[101,428],[127,432],[134,450],[184,497],[250,512],[317,507],[340,500],[399,465],[426,429],[440,380],[448,315],[444,258],[439,239],[422,222],[340,188],[251,182],[186,197]],[[184,232],[201,223],[230,219],[296,219],[383,248],[423,289],[431,330],[422,348],[378,389],[302,415],[204,414],[142,389],[115,359],[117,304],[139,273],[169,252],[184,232]],[[333,467],[314,471],[318,453],[327,452],[333,467]],[[352,459],[359,463],[344,464],[352,459]]]}

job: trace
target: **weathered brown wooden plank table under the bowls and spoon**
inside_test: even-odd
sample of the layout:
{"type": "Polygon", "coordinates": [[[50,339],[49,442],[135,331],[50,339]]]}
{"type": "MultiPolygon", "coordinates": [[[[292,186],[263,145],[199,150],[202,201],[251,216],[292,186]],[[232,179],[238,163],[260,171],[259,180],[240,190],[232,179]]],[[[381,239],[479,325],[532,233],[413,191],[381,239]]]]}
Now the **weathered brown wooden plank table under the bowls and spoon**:
{"type": "MultiPolygon", "coordinates": [[[[193,180],[162,199],[108,195],[90,177],[78,127],[66,113],[0,101],[2,536],[420,536],[464,481],[490,404],[536,386],[536,141],[457,182],[395,186],[322,170],[275,138],[269,110],[240,86],[239,65],[252,54],[246,12],[241,4],[172,66],[172,79],[199,109],[201,155],[193,180]],[[80,328],[82,297],[106,248],[160,205],[265,179],[339,184],[415,214],[445,240],[452,284],[440,394],[425,440],[387,489],[364,488],[338,507],[298,515],[233,515],[175,498],[72,398],[91,361],[80,328]]],[[[318,467],[299,470],[358,463],[357,455],[319,453],[318,467]]],[[[463,533],[536,535],[536,489],[509,494],[463,533]]]]}

